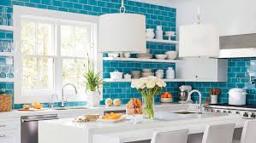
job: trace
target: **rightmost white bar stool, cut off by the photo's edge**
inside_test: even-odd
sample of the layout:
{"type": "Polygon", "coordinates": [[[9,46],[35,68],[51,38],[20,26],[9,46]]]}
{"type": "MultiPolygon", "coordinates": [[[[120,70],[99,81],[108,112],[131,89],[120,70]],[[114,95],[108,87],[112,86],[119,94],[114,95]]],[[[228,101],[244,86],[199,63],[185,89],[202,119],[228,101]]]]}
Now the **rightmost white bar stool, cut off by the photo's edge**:
{"type": "Polygon", "coordinates": [[[255,143],[256,121],[246,121],[241,132],[241,140],[233,140],[233,143],[255,143]]]}

